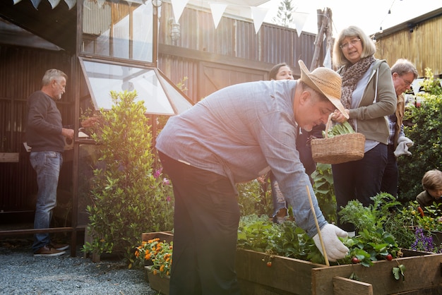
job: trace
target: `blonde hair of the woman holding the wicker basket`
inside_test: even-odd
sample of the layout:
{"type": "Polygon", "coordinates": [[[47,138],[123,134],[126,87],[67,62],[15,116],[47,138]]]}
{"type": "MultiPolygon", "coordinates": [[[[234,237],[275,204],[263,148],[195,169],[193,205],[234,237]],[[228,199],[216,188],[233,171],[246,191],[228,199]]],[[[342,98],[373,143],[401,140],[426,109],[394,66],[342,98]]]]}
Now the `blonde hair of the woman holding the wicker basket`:
{"type": "Polygon", "coordinates": [[[342,40],[344,40],[346,37],[358,37],[361,40],[361,59],[364,59],[365,57],[374,55],[376,53],[376,46],[374,45],[373,40],[371,40],[368,35],[365,35],[364,31],[361,28],[355,25],[350,25],[350,27],[343,29],[339,33],[338,38],[336,38],[335,44],[333,45],[333,64],[335,66],[341,67],[349,66],[352,64],[348,59],[345,58],[341,49],[342,40]]]}

